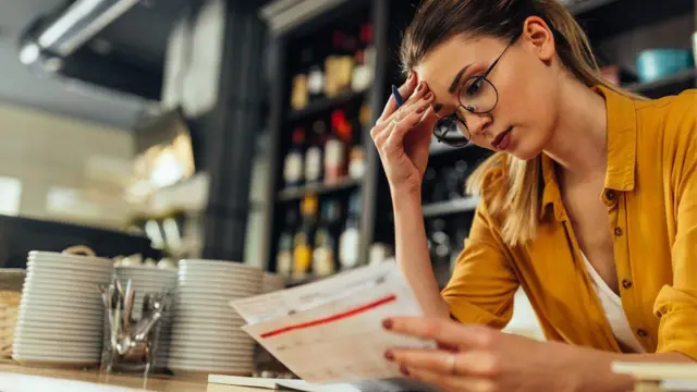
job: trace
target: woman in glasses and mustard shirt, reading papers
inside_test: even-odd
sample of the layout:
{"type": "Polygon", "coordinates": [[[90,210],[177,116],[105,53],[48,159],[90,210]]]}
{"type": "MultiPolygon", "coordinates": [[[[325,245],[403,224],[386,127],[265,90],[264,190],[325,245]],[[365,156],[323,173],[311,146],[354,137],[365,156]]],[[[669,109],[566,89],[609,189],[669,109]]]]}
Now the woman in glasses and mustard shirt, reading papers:
{"type": "Polygon", "coordinates": [[[626,391],[615,360],[697,359],[697,91],[609,85],[557,0],[426,1],[401,57],[405,102],[371,136],[427,317],[384,326],[442,348],[386,357],[452,391],[626,391]],[[468,181],[482,201],[441,293],[420,200],[432,134],[496,151],[468,181]],[[549,342],[499,331],[518,286],[549,342]]]}

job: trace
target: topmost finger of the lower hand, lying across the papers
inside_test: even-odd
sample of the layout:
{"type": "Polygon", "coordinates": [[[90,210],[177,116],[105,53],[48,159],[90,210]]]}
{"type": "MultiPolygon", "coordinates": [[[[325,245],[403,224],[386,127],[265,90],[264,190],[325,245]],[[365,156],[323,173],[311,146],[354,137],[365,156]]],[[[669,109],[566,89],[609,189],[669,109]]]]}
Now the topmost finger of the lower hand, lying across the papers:
{"type": "Polygon", "coordinates": [[[384,320],[383,326],[399,334],[466,348],[485,350],[491,346],[494,335],[488,327],[464,326],[442,318],[394,317],[384,320]]]}

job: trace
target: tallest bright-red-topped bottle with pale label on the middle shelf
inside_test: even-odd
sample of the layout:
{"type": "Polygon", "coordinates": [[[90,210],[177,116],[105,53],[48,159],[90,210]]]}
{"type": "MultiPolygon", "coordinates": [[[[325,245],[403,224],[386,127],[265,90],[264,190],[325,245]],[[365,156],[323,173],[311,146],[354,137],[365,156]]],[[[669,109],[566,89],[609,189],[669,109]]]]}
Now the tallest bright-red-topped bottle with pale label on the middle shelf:
{"type": "Polygon", "coordinates": [[[346,148],[353,138],[351,123],[346,113],[337,109],[331,114],[331,135],[325,152],[325,183],[335,184],[346,176],[346,148]]]}

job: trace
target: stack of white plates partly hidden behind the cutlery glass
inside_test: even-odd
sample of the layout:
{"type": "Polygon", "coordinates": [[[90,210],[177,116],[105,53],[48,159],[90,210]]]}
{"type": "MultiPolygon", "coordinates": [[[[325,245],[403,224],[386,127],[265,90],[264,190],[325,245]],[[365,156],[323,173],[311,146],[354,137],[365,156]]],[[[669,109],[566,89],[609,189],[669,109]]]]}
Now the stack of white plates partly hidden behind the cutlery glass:
{"type": "MultiPolygon", "coordinates": [[[[123,289],[126,289],[129,280],[135,289],[135,299],[133,302],[132,316],[139,320],[143,316],[143,298],[148,293],[171,292],[176,289],[176,270],[158,269],[145,266],[119,266],[114,267],[114,274],[123,289]]],[[[170,335],[172,331],[173,307],[160,321],[160,335],[157,343],[157,358],[155,367],[158,369],[167,366],[169,353],[170,335]]]]}

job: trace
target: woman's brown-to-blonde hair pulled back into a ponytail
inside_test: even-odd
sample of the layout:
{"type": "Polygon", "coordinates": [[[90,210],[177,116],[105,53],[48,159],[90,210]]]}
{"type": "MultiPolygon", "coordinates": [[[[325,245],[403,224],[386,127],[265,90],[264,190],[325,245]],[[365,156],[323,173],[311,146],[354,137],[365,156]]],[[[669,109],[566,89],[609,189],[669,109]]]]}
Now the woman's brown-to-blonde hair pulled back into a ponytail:
{"type": "MultiPolygon", "coordinates": [[[[525,20],[533,15],[541,17],[549,25],[562,64],[578,81],[588,87],[600,85],[640,98],[600,76],[588,37],[558,0],[424,1],[402,40],[400,54],[403,71],[409,72],[429,51],[454,36],[493,36],[512,40],[521,34],[525,20]]],[[[496,152],[469,176],[466,189],[469,194],[480,194],[486,186],[487,174],[499,167],[502,160],[508,168],[509,186],[487,189],[491,191],[487,195],[487,208],[492,216],[503,218],[502,240],[509,246],[516,246],[535,238],[543,186],[541,157],[521,160],[496,152]]]]}

